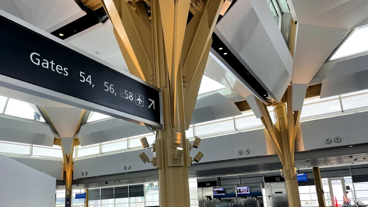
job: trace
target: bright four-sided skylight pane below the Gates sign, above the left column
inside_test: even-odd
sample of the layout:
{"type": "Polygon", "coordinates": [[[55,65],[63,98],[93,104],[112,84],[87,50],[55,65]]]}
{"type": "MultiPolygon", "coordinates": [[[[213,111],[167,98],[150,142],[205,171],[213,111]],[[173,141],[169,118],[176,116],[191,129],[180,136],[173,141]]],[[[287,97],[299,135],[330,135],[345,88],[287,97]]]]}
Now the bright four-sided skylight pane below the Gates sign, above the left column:
{"type": "Polygon", "coordinates": [[[45,122],[35,105],[12,98],[9,99],[6,105],[5,114],[45,122]]]}

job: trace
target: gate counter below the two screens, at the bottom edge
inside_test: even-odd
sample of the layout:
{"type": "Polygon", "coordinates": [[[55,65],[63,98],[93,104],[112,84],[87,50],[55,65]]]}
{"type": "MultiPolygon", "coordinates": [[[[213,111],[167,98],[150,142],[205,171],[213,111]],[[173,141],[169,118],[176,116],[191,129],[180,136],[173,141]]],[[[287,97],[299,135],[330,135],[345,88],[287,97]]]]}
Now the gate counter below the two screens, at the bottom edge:
{"type": "Polygon", "coordinates": [[[261,199],[207,200],[205,207],[262,207],[261,199]]]}

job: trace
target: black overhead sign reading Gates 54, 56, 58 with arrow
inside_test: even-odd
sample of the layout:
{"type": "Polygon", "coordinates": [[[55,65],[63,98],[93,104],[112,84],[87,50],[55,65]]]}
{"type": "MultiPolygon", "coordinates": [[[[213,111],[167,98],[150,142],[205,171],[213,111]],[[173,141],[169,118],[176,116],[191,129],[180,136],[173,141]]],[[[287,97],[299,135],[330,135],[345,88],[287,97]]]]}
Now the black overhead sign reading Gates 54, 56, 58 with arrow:
{"type": "Polygon", "coordinates": [[[162,128],[161,90],[0,10],[0,85],[162,128]]]}

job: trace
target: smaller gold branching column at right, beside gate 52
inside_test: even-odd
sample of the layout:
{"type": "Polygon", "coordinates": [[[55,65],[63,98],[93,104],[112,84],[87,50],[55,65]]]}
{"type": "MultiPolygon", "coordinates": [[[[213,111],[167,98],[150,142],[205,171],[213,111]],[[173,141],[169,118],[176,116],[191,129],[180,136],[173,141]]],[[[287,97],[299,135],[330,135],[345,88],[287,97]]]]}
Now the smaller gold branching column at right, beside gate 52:
{"type": "Polygon", "coordinates": [[[291,110],[291,86],[287,88],[286,97],[287,107],[286,103],[279,103],[274,106],[276,115],[275,124],[272,123],[266,105],[259,100],[258,103],[261,106],[263,114],[263,117],[261,117],[262,123],[268,131],[283,165],[283,169],[280,171],[285,178],[289,207],[300,207],[301,203],[294,163],[295,137],[300,119],[300,111],[294,112],[291,110]]]}

